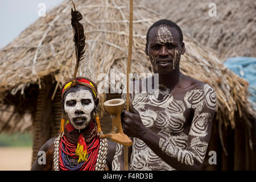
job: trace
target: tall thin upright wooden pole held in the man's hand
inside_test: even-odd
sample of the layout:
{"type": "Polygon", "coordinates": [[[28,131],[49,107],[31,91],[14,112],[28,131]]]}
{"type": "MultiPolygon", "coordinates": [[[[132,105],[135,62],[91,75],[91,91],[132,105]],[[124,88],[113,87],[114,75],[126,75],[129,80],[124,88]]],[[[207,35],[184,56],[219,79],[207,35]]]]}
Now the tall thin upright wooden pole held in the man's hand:
{"type": "MultiPolygon", "coordinates": [[[[129,94],[129,73],[131,72],[131,52],[133,51],[133,0],[130,0],[130,20],[129,20],[129,50],[127,60],[127,73],[126,73],[126,111],[129,111],[130,94],[129,94]]],[[[128,171],[128,146],[123,146],[124,150],[124,169],[128,171]]]]}

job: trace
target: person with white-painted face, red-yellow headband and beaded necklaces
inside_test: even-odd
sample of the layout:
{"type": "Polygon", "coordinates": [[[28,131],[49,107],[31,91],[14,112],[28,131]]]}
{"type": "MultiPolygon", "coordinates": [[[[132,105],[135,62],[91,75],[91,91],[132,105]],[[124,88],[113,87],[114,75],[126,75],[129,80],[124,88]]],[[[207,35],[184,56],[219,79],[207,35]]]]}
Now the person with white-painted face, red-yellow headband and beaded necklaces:
{"type": "Polygon", "coordinates": [[[97,115],[97,85],[88,78],[76,77],[65,82],[61,90],[63,115],[60,133],[40,148],[46,152],[46,164],[39,164],[36,160],[32,170],[111,169],[115,144],[110,142],[109,146],[108,140],[100,139],[103,133],[97,115]]]}

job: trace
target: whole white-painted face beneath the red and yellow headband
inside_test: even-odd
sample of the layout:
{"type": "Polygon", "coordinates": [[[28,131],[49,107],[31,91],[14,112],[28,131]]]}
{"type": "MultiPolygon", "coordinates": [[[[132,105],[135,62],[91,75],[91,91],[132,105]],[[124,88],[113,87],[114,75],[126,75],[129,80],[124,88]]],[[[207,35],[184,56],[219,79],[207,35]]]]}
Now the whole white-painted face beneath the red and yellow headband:
{"type": "Polygon", "coordinates": [[[68,93],[65,98],[64,110],[69,121],[77,130],[84,129],[91,121],[90,113],[94,109],[92,93],[89,90],[79,90],[68,93]]]}

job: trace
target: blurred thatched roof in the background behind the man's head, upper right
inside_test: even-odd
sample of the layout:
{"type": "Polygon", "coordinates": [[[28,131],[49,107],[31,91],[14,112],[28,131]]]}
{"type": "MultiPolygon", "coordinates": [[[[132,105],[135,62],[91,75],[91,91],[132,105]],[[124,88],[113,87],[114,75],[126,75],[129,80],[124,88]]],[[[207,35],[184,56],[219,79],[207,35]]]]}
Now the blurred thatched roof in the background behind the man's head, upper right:
{"type": "Polygon", "coordinates": [[[142,0],[142,3],[179,24],[201,44],[215,49],[222,62],[228,57],[256,57],[254,0],[142,0]],[[210,3],[216,4],[216,17],[208,15],[213,10],[210,3]]]}

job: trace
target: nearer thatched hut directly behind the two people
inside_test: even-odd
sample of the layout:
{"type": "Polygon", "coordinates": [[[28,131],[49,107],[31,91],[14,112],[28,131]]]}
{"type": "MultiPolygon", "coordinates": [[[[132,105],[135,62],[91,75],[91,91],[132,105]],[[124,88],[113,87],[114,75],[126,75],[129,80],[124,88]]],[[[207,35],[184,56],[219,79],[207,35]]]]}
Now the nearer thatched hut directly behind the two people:
{"type": "MultiPolygon", "coordinates": [[[[86,56],[77,76],[100,82],[97,75],[109,74],[112,68],[116,73],[126,73],[129,36],[127,1],[77,0],[75,3],[77,10],[84,16],[82,23],[86,34],[86,56]]],[[[0,98],[3,105],[13,105],[15,113],[31,114],[34,133],[32,161],[36,159],[42,144],[59,129],[60,85],[72,77],[75,61],[71,7],[70,1],[64,1],[0,51],[0,98]]],[[[153,10],[134,2],[132,73],[152,71],[150,61],[144,54],[146,32],[160,18],[153,10]]],[[[224,155],[222,148],[227,150],[225,142],[228,136],[222,134],[225,133],[225,127],[234,129],[236,125],[242,125],[246,133],[251,131],[253,123],[250,118],[255,113],[247,101],[247,82],[226,69],[212,49],[200,46],[186,34],[184,41],[187,53],[181,57],[181,71],[212,85],[217,93],[218,110],[209,150],[216,150],[220,159],[224,155]],[[237,114],[243,122],[237,123],[237,114]]],[[[102,103],[112,97],[112,94],[100,95],[101,113],[104,113],[102,103]]],[[[119,95],[114,94],[114,97],[119,95]]],[[[102,126],[103,130],[107,125],[111,123],[106,122],[102,126]]],[[[246,139],[251,141],[251,134],[246,139]]],[[[240,148],[235,150],[239,151],[240,148]]],[[[251,158],[251,155],[248,157],[251,158]]],[[[205,169],[209,169],[208,161],[205,161],[205,169]]]]}

